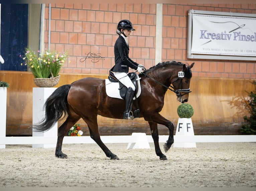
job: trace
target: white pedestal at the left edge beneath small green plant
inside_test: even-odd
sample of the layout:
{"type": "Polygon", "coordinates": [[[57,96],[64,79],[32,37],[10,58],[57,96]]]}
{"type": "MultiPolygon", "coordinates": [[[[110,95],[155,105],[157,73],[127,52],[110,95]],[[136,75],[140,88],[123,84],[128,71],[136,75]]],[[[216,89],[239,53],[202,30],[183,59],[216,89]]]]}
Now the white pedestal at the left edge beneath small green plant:
{"type": "MultiPolygon", "coordinates": [[[[0,137],[6,136],[6,106],[7,88],[0,87],[0,137]]],[[[5,148],[5,144],[0,144],[0,148],[5,148]]]]}

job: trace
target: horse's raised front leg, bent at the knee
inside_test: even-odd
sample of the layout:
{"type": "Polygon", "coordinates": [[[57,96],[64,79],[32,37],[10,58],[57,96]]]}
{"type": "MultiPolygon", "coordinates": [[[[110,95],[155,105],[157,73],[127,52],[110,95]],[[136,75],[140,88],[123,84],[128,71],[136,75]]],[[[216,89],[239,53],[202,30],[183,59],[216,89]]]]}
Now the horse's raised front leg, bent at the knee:
{"type": "Polygon", "coordinates": [[[169,129],[168,140],[163,145],[164,151],[167,152],[170,149],[172,143],[174,142],[174,138],[173,138],[174,125],[171,121],[167,120],[159,113],[154,113],[153,115],[151,115],[151,120],[155,123],[165,125],[169,129]]]}

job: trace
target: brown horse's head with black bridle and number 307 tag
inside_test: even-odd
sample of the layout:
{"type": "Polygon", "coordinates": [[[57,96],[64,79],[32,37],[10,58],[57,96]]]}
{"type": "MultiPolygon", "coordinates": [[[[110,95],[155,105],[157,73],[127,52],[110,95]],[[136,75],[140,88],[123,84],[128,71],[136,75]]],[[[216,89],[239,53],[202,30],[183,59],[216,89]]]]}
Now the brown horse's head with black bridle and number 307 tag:
{"type": "Polygon", "coordinates": [[[188,101],[188,93],[190,92],[189,84],[192,77],[190,69],[193,68],[194,64],[192,63],[190,66],[183,64],[182,71],[178,71],[177,78],[171,82],[174,93],[177,95],[177,100],[181,103],[188,101]]]}

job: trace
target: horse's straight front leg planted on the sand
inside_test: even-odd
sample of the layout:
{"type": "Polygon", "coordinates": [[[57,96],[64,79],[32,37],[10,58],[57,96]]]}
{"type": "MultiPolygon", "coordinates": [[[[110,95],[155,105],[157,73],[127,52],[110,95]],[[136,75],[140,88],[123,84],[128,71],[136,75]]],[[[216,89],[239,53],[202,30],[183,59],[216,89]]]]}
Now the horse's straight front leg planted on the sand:
{"type": "Polygon", "coordinates": [[[167,157],[162,153],[160,147],[159,147],[159,136],[158,136],[158,129],[157,129],[157,123],[148,121],[150,130],[151,130],[151,135],[154,141],[155,145],[155,153],[157,156],[160,157],[160,160],[167,160],[167,157]]]}

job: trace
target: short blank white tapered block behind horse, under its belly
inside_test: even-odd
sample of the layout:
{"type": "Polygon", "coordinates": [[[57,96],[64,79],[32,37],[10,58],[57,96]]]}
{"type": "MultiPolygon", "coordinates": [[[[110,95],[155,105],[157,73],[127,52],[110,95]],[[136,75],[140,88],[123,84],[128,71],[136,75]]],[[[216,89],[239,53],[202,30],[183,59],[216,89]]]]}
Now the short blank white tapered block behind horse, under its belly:
{"type": "Polygon", "coordinates": [[[128,143],[127,149],[150,148],[146,133],[132,133],[135,141],[128,143]]]}

